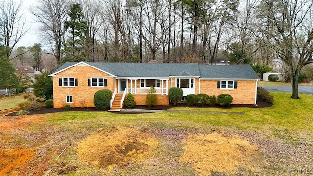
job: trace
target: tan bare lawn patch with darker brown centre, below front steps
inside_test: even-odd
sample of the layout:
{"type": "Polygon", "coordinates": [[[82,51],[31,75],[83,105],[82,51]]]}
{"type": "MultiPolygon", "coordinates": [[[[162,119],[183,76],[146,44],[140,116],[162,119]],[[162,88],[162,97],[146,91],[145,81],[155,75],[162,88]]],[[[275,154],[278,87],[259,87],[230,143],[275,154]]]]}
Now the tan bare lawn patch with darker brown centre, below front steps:
{"type": "Polygon", "coordinates": [[[148,158],[158,145],[155,137],[132,129],[112,129],[89,135],[78,142],[79,159],[98,168],[124,167],[148,158]]]}

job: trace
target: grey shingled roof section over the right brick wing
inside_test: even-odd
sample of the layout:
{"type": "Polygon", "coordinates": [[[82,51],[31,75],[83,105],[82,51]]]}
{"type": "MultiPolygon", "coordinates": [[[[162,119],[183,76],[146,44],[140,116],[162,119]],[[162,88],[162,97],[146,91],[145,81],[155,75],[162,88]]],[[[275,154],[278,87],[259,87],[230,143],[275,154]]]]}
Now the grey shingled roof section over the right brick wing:
{"type": "Polygon", "coordinates": [[[199,65],[201,78],[259,79],[250,65],[199,65]]]}

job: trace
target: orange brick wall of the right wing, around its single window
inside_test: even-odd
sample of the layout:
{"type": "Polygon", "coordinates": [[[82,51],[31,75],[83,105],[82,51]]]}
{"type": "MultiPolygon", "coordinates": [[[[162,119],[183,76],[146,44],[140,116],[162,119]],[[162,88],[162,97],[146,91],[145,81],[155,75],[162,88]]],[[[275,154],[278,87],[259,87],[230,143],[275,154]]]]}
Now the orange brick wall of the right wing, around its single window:
{"type": "Polygon", "coordinates": [[[255,81],[253,80],[234,80],[238,82],[237,89],[225,90],[218,89],[217,82],[220,80],[201,80],[200,93],[215,95],[229,94],[233,97],[231,104],[254,104],[255,103],[255,81]]]}

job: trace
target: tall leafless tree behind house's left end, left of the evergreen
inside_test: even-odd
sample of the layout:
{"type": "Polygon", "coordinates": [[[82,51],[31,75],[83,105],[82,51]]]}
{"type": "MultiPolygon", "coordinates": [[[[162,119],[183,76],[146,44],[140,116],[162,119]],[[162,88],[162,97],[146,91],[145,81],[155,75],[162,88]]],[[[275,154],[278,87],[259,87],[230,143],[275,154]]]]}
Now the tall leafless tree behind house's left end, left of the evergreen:
{"type": "Polygon", "coordinates": [[[30,12],[36,17],[35,21],[41,23],[41,38],[50,44],[52,55],[59,64],[62,58],[61,50],[65,43],[66,30],[63,24],[67,20],[67,11],[71,2],[69,0],[40,0],[37,4],[30,8],[30,12]]]}

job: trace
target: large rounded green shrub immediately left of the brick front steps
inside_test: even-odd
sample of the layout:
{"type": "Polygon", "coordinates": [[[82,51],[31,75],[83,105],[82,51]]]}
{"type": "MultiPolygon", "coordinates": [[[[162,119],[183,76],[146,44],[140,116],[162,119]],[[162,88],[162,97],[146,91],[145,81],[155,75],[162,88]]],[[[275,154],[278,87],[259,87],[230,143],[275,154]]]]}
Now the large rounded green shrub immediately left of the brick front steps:
{"type": "Polygon", "coordinates": [[[103,89],[98,90],[93,97],[93,104],[97,110],[108,110],[110,109],[110,100],[112,97],[111,90],[103,89]]]}

